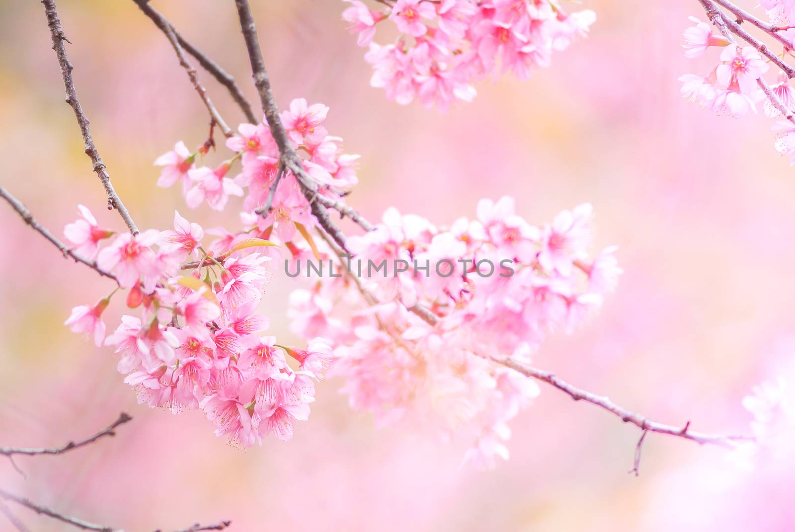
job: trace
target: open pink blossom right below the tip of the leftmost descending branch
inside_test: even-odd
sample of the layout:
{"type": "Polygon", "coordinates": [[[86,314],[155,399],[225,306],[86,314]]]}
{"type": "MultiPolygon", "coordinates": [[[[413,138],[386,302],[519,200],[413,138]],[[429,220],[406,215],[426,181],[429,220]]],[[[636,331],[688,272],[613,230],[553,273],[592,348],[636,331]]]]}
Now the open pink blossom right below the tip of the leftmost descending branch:
{"type": "Polygon", "coordinates": [[[149,229],[138,235],[118,235],[110,246],[99,252],[97,266],[115,270],[118,285],[132,288],[140,279],[145,292],[154,289],[161,276],[157,254],[151,246],[160,238],[160,231],[149,229]]]}

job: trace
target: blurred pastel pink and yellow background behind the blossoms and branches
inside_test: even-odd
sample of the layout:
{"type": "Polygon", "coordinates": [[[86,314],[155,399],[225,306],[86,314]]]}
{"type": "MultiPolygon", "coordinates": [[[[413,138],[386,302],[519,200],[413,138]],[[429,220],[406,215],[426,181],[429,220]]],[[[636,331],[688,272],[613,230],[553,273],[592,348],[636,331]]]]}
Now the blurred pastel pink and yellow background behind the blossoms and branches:
{"type": "MultiPolygon", "coordinates": [[[[598,14],[587,41],[529,82],[480,83],[473,103],[446,115],[399,107],[369,87],[343,2],[254,3],[279,103],[331,107],[328,129],[363,155],[350,203],[370,218],[395,205],[446,223],[474,216],[481,197],[510,194],[543,223],[594,204],[597,241],[620,246],[626,274],[587,327],[543,345],[538,366],[659,421],[747,430],[741,399],[795,344],[795,183],[769,119],[718,117],[681,99],[677,77],[716,59],[682,56],[687,16],[703,18],[695,0],[587,0],[598,14]]],[[[233,2],[155,6],[255,101],[233,2]]],[[[154,185],[157,155],[207,133],[162,33],[133,2],[59,8],[80,100],[138,225],[169,227],[175,206],[204,227],[233,223],[234,209],[188,212],[177,188],[154,185]]],[[[103,207],[50,46],[38,2],[0,2],[0,181],[59,235],[78,203],[120,227],[103,207]]],[[[237,123],[225,89],[200,78],[237,123]]],[[[461,469],[463,444],[376,431],[333,379],[318,386],[292,441],[232,449],[198,412],[138,406],[111,350],[63,327],[73,305],[111,285],[61,258],[5,205],[0,249],[0,445],[60,445],[121,410],[134,417],[90,448],[18,458],[26,479],[0,460],[0,485],[68,515],[126,530],[221,518],[245,531],[710,530],[720,499],[703,480],[724,467],[722,451],[650,435],[641,476],[627,475],[638,430],[548,387],[514,420],[510,461],[491,472],[461,469]]],[[[289,335],[293,286],[277,277],[266,297],[279,336],[289,335]]],[[[32,530],[67,530],[13,510],[32,530]]]]}

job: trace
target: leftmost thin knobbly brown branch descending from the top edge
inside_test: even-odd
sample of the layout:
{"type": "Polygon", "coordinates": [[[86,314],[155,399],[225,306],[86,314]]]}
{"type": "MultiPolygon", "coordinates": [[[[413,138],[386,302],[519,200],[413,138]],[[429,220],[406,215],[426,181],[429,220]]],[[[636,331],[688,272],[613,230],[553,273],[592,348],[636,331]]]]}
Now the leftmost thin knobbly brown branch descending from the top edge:
{"type": "Polygon", "coordinates": [[[74,70],[74,67],[72,66],[72,63],[69,62],[69,58],[66,55],[66,47],[64,46],[64,41],[69,42],[69,40],[64,36],[64,29],[61,28],[58,13],[56,12],[55,1],[41,0],[41,3],[44,4],[45,13],[47,14],[50,37],[52,37],[52,49],[55,50],[56,55],[58,56],[61,76],[64,78],[64,87],[66,87],[66,103],[72,106],[72,110],[75,111],[75,118],[77,118],[77,123],[80,126],[80,134],[83,135],[83,144],[85,146],[86,155],[91,158],[94,171],[99,177],[99,181],[102,181],[103,187],[105,188],[105,193],[107,194],[107,208],[109,210],[116,208],[119,216],[122,216],[124,223],[130,229],[130,232],[133,233],[133,235],[137,235],[138,227],[135,226],[132,217],[130,217],[130,212],[127,211],[127,208],[122,203],[121,198],[118,197],[118,194],[113,188],[113,184],[111,184],[111,176],[109,173],[107,173],[107,167],[105,166],[102,157],[99,156],[99,151],[94,144],[94,138],[91,137],[91,129],[89,128],[88,118],[86,117],[85,113],[83,113],[83,107],[80,106],[80,100],[77,99],[75,83],[72,80],[72,70],[74,70]]]}

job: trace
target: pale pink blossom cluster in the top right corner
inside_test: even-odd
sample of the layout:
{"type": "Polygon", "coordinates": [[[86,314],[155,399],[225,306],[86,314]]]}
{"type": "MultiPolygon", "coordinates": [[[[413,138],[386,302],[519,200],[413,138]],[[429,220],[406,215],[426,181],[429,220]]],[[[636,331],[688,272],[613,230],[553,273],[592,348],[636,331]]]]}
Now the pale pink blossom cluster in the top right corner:
{"type": "MultiPolygon", "coordinates": [[[[795,9],[795,2],[790,0],[767,0],[761,3],[774,23],[789,20],[790,13],[795,9]]],[[[682,82],[681,93],[685,98],[720,115],[734,117],[747,115],[749,111],[757,112],[758,103],[763,103],[765,115],[769,118],[784,118],[781,106],[789,111],[795,108],[795,88],[790,85],[785,72],[779,71],[776,82],[770,83],[770,92],[778,99],[777,103],[760,87],[770,65],[757,49],[753,46],[740,48],[723,35],[714,33],[707,22],[696,17],[690,17],[690,20],[696,25],[684,31],[685,56],[691,59],[703,56],[710,47],[722,50],[719,63],[706,76],[685,74],[679,78],[682,82]]],[[[782,30],[780,35],[791,41],[795,38],[795,28],[782,30]]],[[[790,165],[795,165],[795,123],[790,119],[781,119],[774,125],[774,130],[778,131],[776,150],[792,156],[790,165]]]]}

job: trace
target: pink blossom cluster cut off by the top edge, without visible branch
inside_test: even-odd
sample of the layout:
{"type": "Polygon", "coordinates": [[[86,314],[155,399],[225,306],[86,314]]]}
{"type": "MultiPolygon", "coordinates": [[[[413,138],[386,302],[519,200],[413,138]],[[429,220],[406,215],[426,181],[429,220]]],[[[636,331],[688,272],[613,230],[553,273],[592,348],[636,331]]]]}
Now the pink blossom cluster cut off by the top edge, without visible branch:
{"type": "Polygon", "coordinates": [[[591,10],[568,14],[550,0],[383,0],[380,10],[345,2],[351,3],[343,11],[351,33],[369,47],[370,84],[397,103],[416,98],[441,111],[454,100],[471,101],[471,82],[498,69],[529,78],[595,21],[591,10]],[[397,29],[394,44],[373,42],[382,21],[397,29]]]}

